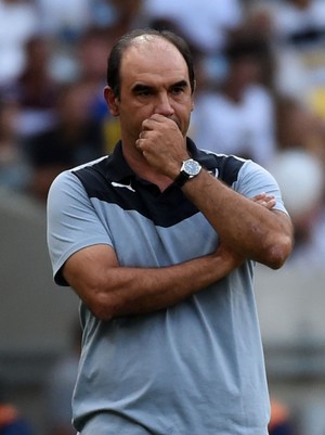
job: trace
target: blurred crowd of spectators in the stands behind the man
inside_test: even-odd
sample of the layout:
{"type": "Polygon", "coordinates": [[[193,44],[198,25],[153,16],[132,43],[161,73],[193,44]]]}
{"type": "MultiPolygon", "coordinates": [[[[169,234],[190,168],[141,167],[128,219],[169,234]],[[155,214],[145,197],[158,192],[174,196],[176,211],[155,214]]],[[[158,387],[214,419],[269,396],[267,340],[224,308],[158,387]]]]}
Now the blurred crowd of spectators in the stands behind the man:
{"type": "Polygon", "coordinates": [[[289,264],[324,266],[324,0],[0,0],[0,187],[44,204],[58,172],[113,150],[107,55],[146,26],[193,50],[190,136],[266,167],[295,225],[289,264]]]}

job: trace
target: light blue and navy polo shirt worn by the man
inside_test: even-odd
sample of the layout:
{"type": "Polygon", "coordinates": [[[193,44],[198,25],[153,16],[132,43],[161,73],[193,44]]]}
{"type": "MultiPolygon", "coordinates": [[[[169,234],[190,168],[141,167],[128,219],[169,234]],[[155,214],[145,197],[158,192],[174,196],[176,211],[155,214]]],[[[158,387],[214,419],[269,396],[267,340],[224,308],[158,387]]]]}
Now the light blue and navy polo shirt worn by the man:
{"type": "MultiPolygon", "coordinates": [[[[197,150],[193,158],[238,193],[275,195],[251,161],[197,150]]],[[[213,252],[218,234],[182,191],[162,193],[110,156],[61,174],[48,203],[55,281],[67,258],[108,244],[121,267],[165,267],[213,252]]],[[[268,435],[269,394],[253,263],[184,302],[143,316],[98,320],[81,303],[82,351],[73,399],[82,435],[268,435]]]]}

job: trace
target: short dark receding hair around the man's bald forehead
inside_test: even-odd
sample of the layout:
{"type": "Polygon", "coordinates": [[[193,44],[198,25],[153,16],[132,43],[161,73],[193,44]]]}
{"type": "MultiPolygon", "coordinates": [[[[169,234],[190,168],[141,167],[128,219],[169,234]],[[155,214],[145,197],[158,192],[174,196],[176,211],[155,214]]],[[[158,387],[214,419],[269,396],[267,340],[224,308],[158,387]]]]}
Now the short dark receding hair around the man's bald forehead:
{"type": "Polygon", "coordinates": [[[121,57],[127,48],[129,48],[135,38],[140,36],[157,36],[172,43],[184,57],[190,77],[191,91],[195,89],[195,73],[193,56],[187,42],[179,35],[170,30],[157,30],[153,28],[135,29],[121,36],[112,48],[107,60],[107,85],[112,88],[115,97],[120,98],[120,64],[121,57]]]}

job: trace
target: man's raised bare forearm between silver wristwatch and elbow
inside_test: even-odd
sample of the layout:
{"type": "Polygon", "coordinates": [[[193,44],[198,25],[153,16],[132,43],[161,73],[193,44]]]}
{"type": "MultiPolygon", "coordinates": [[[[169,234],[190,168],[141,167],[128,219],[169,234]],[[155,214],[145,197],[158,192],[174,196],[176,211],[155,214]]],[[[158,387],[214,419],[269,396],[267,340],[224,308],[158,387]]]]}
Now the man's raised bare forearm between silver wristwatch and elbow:
{"type": "Polygon", "coordinates": [[[221,239],[244,257],[276,268],[289,254],[291,225],[284,215],[239,195],[205,170],[182,189],[221,239]]]}

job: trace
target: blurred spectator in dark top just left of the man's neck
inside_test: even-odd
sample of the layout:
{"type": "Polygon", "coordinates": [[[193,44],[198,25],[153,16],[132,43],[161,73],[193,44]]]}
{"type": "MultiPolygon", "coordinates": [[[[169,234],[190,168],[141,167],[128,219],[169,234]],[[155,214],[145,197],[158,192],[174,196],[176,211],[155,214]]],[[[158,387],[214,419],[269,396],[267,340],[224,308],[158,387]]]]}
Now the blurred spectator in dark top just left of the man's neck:
{"type": "Polygon", "coordinates": [[[63,86],[56,125],[29,139],[30,193],[36,197],[47,199],[50,184],[62,170],[104,154],[103,126],[91,115],[91,99],[92,89],[87,82],[63,86]]]}

